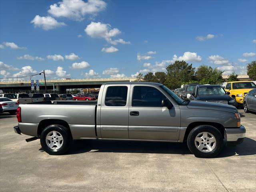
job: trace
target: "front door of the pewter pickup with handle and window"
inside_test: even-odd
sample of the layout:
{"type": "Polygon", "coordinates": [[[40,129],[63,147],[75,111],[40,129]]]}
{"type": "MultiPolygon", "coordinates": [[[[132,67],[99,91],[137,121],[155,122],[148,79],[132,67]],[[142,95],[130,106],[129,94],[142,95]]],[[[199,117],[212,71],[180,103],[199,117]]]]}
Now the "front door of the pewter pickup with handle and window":
{"type": "Polygon", "coordinates": [[[180,133],[180,109],[162,107],[166,96],[151,86],[131,86],[129,138],[138,140],[175,140],[180,133]],[[133,91],[132,91],[133,90],[133,91]]]}

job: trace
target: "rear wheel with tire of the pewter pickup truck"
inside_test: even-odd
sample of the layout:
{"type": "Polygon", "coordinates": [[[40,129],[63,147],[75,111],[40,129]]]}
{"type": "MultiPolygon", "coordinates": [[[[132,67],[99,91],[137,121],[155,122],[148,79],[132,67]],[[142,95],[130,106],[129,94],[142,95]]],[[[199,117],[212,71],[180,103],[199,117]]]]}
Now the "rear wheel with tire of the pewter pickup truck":
{"type": "Polygon", "coordinates": [[[50,155],[62,155],[70,148],[72,137],[66,127],[52,124],[42,131],[40,143],[46,153],[50,155]]]}

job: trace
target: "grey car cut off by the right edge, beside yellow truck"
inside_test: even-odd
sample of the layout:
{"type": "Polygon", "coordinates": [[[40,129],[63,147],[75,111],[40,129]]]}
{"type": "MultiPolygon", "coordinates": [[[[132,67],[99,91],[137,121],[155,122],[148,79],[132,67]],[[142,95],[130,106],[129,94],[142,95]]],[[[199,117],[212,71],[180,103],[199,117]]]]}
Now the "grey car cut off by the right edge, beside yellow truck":
{"type": "Polygon", "coordinates": [[[244,112],[250,111],[256,112],[256,89],[250,90],[246,96],[244,96],[244,112]]]}

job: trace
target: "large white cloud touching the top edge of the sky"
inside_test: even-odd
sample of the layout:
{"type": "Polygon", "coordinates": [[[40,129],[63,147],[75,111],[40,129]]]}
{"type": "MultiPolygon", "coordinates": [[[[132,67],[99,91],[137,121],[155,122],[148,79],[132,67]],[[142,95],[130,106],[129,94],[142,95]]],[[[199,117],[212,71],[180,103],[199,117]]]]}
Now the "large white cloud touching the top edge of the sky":
{"type": "Polygon", "coordinates": [[[71,20],[82,21],[85,15],[95,15],[104,10],[107,4],[102,0],[62,0],[58,4],[50,5],[48,13],[54,17],[65,17],[71,20]]]}

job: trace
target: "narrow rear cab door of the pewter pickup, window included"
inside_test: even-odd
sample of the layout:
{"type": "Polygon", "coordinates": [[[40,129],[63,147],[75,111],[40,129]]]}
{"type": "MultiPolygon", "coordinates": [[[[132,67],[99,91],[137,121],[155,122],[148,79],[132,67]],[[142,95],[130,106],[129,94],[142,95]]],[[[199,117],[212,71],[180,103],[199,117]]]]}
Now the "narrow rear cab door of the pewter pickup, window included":
{"type": "Polygon", "coordinates": [[[100,108],[100,132],[103,139],[128,139],[130,84],[105,85],[100,108]]]}

